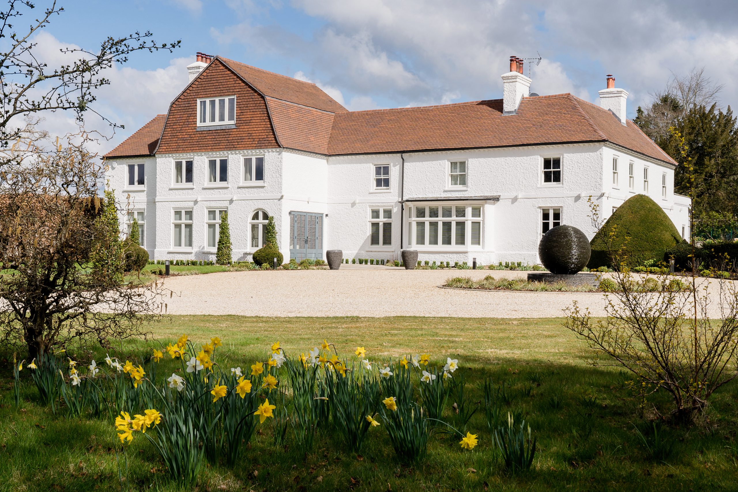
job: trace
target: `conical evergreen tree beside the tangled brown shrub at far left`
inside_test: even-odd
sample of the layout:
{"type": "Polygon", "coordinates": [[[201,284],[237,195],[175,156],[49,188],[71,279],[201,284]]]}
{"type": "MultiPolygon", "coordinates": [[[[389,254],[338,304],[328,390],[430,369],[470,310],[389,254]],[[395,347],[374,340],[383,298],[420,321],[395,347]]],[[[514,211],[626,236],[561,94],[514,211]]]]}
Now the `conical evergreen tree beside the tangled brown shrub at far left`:
{"type": "Polygon", "coordinates": [[[103,210],[94,221],[95,241],[90,254],[92,271],[98,278],[123,282],[123,244],[120,242],[118,207],[113,190],[105,190],[103,210]]]}

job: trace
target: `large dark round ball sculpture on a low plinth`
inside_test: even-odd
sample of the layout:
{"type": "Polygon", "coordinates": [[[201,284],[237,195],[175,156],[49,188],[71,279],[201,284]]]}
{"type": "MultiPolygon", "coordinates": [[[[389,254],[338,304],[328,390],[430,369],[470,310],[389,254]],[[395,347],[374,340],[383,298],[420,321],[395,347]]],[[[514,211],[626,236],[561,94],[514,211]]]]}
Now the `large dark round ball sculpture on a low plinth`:
{"type": "Polygon", "coordinates": [[[552,274],[576,274],[590,260],[590,241],[573,226],[556,226],[543,235],[538,257],[552,274]]]}

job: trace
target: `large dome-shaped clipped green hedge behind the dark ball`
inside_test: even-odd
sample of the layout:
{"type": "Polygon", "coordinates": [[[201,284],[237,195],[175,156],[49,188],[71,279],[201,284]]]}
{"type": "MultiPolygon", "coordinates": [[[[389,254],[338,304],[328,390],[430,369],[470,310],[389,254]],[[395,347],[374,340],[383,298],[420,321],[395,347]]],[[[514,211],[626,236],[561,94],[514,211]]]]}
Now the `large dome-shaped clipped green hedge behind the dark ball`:
{"type": "Polygon", "coordinates": [[[681,240],[674,223],[655,201],[646,195],[634,195],[615,210],[592,238],[592,256],[588,266],[590,269],[600,266],[615,268],[618,267],[615,263],[625,263],[633,268],[643,266],[644,261],[661,261],[666,250],[681,240]],[[608,248],[613,228],[615,235],[608,248]],[[630,239],[626,241],[626,238],[630,239]],[[623,257],[618,262],[610,252],[617,254],[621,247],[624,247],[623,257]]]}

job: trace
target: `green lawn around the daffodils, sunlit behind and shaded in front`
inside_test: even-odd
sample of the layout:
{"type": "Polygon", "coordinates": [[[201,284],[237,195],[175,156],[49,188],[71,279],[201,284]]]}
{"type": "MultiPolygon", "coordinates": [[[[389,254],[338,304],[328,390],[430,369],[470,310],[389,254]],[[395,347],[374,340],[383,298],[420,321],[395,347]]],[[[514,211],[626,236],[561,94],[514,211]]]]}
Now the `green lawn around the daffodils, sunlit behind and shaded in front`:
{"type": "MultiPolygon", "coordinates": [[[[323,339],[339,353],[353,356],[366,347],[371,360],[407,353],[430,353],[433,364],[458,358],[468,378],[470,403],[483,401],[486,378],[504,381],[511,395],[506,411],[522,412],[538,437],[534,469],[512,477],[504,471],[480,408],[467,428],[479,434],[473,451],[463,451],[458,437],[435,434],[427,460],[406,466],[396,462],[383,426],[370,429],[361,456],[342,449],[330,429],[317,437],[314,450],[300,455],[291,446],[276,448],[273,421],[258,426],[241,465],[207,465],[201,491],[240,490],[612,490],[697,491],[738,488],[738,388],[728,384],[711,400],[706,422],[692,428],[663,426],[669,457],[655,457],[649,423],[637,398],[624,389],[628,375],[584,364],[592,354],[561,319],[453,318],[258,318],[242,316],[172,316],[151,327],[169,342],[181,333],[204,343],[220,336],[218,360],[247,367],[264,360],[269,344],[279,340],[288,355],[306,352],[323,339]],[[638,429],[638,430],[636,430],[638,429]],[[639,434],[640,432],[640,434],[639,434]],[[641,438],[641,434],[644,438],[641,438]],[[646,443],[649,446],[646,447],[646,443]]],[[[157,343],[154,342],[154,343],[157,343]]],[[[119,356],[148,355],[151,342],[126,342],[119,356]]],[[[86,361],[104,353],[69,350],[86,361]]],[[[114,350],[111,350],[113,355],[114,350]]],[[[157,373],[168,375],[172,361],[157,373]]],[[[0,491],[127,490],[118,481],[117,438],[108,420],[58,416],[38,406],[27,370],[21,375],[21,410],[12,406],[11,368],[0,365],[0,491]]],[[[459,375],[456,373],[455,375],[459,375]]],[[[449,406],[452,402],[449,401],[449,406]]],[[[646,405],[665,408],[666,395],[646,405]]],[[[483,403],[482,403],[483,406],[483,403]]],[[[446,409],[446,417],[451,409],[446,409]]],[[[153,446],[142,436],[126,450],[131,490],[175,490],[153,446]]]]}

